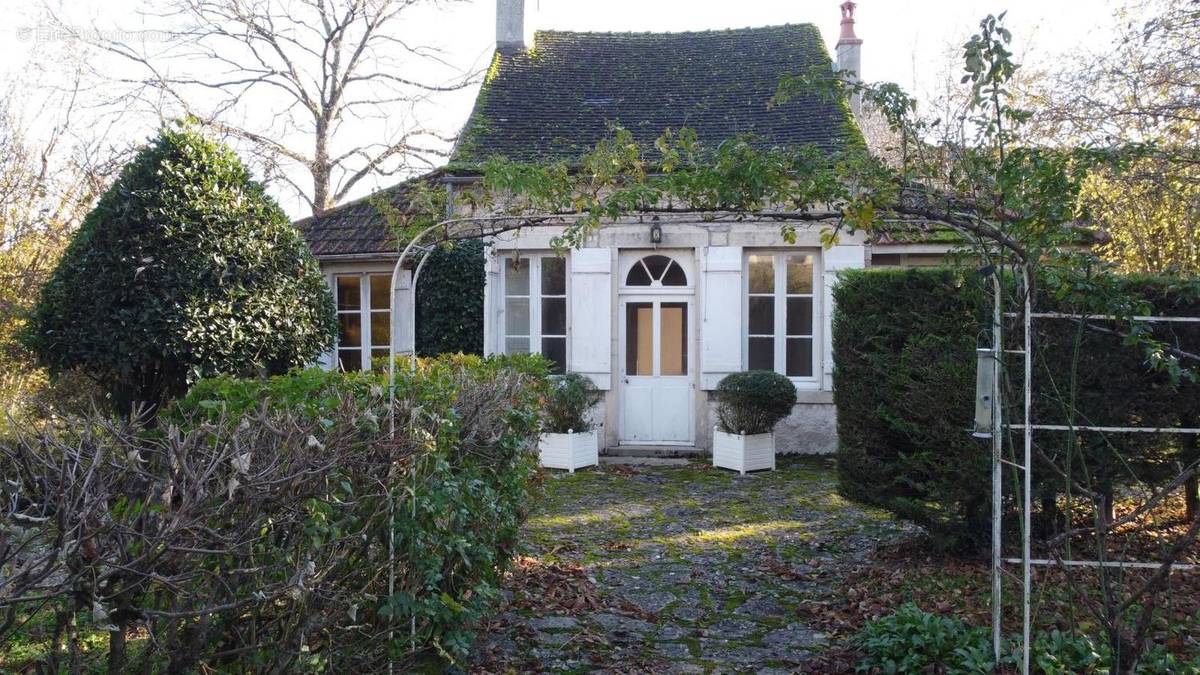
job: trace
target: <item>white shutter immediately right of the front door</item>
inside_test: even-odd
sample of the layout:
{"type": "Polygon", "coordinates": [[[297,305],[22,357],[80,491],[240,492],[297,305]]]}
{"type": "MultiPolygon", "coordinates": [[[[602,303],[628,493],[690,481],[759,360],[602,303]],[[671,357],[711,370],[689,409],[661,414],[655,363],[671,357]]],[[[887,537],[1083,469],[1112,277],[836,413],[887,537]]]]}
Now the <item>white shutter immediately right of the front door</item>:
{"type": "Polygon", "coordinates": [[[709,246],[701,259],[700,384],[715,389],[742,370],[742,246],[709,246]]]}

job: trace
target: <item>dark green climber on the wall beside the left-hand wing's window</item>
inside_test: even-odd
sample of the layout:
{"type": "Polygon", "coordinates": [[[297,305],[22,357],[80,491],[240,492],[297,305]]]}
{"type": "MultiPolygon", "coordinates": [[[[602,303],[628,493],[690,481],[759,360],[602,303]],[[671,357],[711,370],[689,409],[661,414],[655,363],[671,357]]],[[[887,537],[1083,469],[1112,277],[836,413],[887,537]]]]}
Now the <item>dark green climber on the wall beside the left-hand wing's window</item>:
{"type": "Polygon", "coordinates": [[[430,253],[416,282],[416,351],[422,357],[484,352],[484,243],[430,253]]]}

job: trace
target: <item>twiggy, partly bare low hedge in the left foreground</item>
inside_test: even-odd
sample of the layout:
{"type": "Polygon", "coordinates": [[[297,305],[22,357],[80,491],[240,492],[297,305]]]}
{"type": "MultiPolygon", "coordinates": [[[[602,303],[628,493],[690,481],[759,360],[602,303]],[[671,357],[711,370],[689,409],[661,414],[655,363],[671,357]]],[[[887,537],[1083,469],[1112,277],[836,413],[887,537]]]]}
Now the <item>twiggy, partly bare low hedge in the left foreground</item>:
{"type": "Polygon", "coordinates": [[[202,381],[154,426],[70,418],[5,442],[0,663],[461,657],[533,503],[545,372],[421,362],[397,378],[395,437],[384,376],[308,370],[202,381]]]}

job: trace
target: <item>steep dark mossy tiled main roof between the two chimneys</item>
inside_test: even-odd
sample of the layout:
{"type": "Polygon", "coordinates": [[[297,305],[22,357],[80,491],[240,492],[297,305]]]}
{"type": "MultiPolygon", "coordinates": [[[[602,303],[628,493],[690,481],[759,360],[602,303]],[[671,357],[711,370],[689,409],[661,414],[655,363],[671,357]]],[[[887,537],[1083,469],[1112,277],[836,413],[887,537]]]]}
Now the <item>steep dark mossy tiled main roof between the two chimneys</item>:
{"type": "Polygon", "coordinates": [[[497,54],[451,166],[491,156],[571,160],[618,124],[643,144],[666,129],[700,141],[752,135],[764,145],[838,147],[844,102],[799,96],[769,107],[779,80],[832,67],[811,24],[703,32],[541,31],[533,48],[497,54]]]}

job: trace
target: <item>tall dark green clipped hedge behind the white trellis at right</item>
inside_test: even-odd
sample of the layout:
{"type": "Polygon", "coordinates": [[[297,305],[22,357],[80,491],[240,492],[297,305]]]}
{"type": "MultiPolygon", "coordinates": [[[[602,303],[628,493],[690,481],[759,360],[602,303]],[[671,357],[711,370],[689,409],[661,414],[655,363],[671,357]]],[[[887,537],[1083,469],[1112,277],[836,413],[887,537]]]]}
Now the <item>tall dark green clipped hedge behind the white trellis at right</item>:
{"type": "MultiPolygon", "coordinates": [[[[1128,277],[1116,287],[1153,313],[1200,315],[1194,281],[1128,277]]],[[[990,344],[985,283],[971,270],[864,270],[842,275],[834,298],[841,491],[923,525],[944,548],[985,545],[990,446],[970,435],[974,350],[990,344]]],[[[1043,297],[1039,306],[1079,309],[1070,298],[1043,297]]],[[[1169,342],[1200,346],[1200,329],[1176,324],[1156,330],[1169,342]]],[[[1019,378],[1012,384],[1020,390],[1019,378]]],[[[1080,331],[1068,321],[1036,323],[1033,386],[1036,422],[1042,424],[1070,423],[1063,405],[1070,400],[1078,411],[1074,424],[1195,426],[1200,410],[1200,387],[1172,387],[1120,336],[1080,331]]],[[[1110,494],[1122,483],[1160,480],[1176,460],[1195,452],[1177,436],[1080,434],[1075,448],[1068,447],[1066,434],[1040,432],[1037,441],[1051,456],[1069,450],[1082,458],[1075,470],[1086,462],[1090,478],[1110,494]]],[[[1052,503],[1062,482],[1045,466],[1036,467],[1036,477],[1040,495],[1052,503]]]]}

